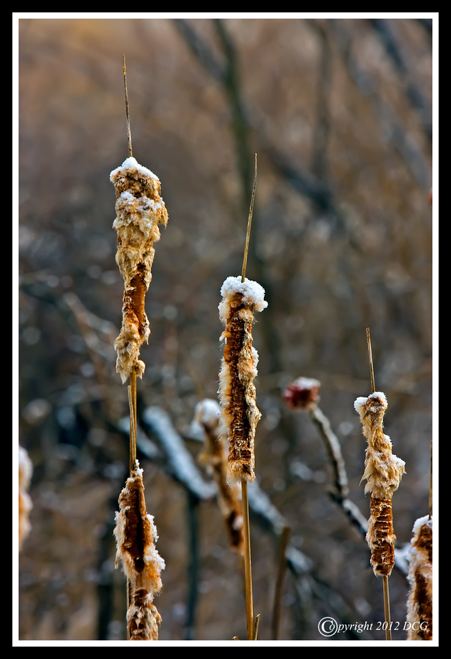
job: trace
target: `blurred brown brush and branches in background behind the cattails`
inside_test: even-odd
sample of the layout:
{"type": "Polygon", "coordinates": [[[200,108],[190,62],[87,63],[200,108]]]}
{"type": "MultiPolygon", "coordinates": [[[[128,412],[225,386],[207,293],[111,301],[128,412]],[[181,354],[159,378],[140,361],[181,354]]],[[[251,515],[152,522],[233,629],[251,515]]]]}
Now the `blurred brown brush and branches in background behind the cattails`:
{"type": "MultiPolygon", "coordinates": [[[[34,464],[34,508],[19,637],[125,634],[112,527],[128,408],[114,371],[122,280],[109,181],[127,157],[123,54],[134,157],[160,178],[169,211],[147,293],[141,421],[149,406],[167,413],[196,460],[191,420],[199,397],[217,398],[219,290],[241,273],[257,153],[247,276],[269,307],[254,326],[256,474],[308,564],[287,573],[279,638],[321,639],[326,615],[376,625],[382,586],[365,540],[328,496],[317,428],[281,393],[300,375],[321,381],[350,498],[367,518],[353,402],[370,393],[371,328],[385,432],[406,461],[395,533],[409,542],[428,512],[432,437],[432,20],[21,19],[19,441],[34,464]]],[[[217,504],[177,481],[141,426],[147,509],[167,564],[160,639],[245,638],[241,568],[217,504]]],[[[277,551],[253,514],[260,640],[271,638],[277,551]]],[[[394,570],[393,621],[404,623],[406,592],[394,570]]],[[[375,629],[367,638],[382,639],[375,629]]]]}

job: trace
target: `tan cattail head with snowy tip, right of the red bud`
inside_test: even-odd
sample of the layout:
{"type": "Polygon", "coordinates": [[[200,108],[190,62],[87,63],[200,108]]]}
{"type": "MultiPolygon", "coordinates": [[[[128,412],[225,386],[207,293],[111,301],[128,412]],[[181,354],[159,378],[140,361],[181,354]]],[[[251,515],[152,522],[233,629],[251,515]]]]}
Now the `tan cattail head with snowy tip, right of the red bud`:
{"type": "Polygon", "coordinates": [[[370,493],[367,542],[371,549],[371,566],[374,574],[388,577],[395,564],[395,534],[391,497],[398,489],[404,461],[391,452],[391,441],[382,431],[382,422],[387,409],[387,398],[381,391],[367,398],[358,397],[354,408],[360,416],[363,435],[368,446],[365,454],[365,494],[370,493]]]}

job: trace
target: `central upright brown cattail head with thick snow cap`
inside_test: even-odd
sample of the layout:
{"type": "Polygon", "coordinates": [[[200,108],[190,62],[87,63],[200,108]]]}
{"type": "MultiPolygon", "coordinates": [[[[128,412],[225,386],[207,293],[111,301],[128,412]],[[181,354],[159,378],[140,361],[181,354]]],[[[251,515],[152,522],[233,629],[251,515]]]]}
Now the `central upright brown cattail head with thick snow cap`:
{"type": "Polygon", "coordinates": [[[228,277],[221,287],[219,317],[226,329],[219,373],[219,399],[223,424],[228,428],[229,481],[254,481],[254,437],[260,411],[256,406],[254,378],[258,354],[252,346],[254,312],[268,305],[265,290],[256,281],[228,277]]]}

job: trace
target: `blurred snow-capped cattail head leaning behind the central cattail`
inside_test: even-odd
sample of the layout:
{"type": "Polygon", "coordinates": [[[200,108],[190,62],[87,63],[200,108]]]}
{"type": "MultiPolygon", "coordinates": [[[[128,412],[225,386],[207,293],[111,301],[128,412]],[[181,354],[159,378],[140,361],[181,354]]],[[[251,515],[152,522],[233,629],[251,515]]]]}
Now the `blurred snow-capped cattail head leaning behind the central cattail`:
{"type": "Polygon", "coordinates": [[[204,431],[204,450],[199,461],[213,474],[217,485],[218,503],[230,547],[243,553],[243,510],[238,483],[227,482],[227,453],[221,428],[221,408],[216,400],[205,398],[197,403],[194,422],[204,431]]]}

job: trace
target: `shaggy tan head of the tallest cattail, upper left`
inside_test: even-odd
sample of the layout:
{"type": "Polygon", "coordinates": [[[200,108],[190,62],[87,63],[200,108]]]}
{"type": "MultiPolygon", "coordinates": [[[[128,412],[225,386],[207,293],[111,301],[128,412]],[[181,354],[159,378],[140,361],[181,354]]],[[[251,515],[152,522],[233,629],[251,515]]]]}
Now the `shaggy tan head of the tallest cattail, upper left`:
{"type": "Polygon", "coordinates": [[[114,341],[116,370],[125,382],[132,373],[143,377],[145,364],[140,348],[150,329],[145,312],[145,294],[151,281],[154,242],[160,240],[159,224],[168,215],[160,196],[160,180],[132,157],[110,174],[116,191],[116,262],[124,280],[121,334],[114,341]]]}

